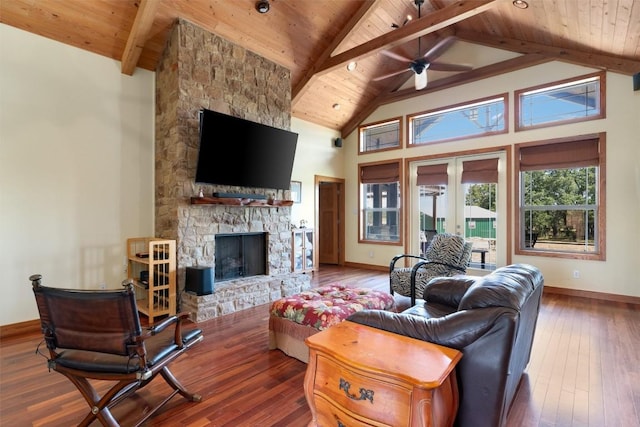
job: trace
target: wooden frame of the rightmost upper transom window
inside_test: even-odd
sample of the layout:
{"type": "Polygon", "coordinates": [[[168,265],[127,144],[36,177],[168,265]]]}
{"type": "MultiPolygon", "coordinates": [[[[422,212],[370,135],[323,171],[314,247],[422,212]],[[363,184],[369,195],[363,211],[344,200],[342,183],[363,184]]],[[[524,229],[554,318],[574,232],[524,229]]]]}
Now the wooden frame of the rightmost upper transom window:
{"type": "Polygon", "coordinates": [[[591,74],[585,74],[582,76],[578,76],[578,77],[571,77],[568,79],[564,79],[564,80],[558,80],[558,81],[554,81],[551,83],[544,83],[541,85],[537,85],[537,86],[531,86],[528,88],[524,88],[524,89],[518,89],[515,90],[513,92],[513,99],[514,99],[514,113],[515,113],[515,120],[514,120],[514,128],[516,132],[522,132],[522,131],[527,131],[527,130],[532,130],[532,129],[540,129],[540,128],[546,128],[546,127],[552,127],[552,126],[560,126],[560,125],[565,125],[565,124],[569,124],[569,123],[580,123],[580,122],[586,122],[586,121],[590,121],[590,120],[600,120],[600,119],[604,119],[607,117],[607,103],[606,103],[606,88],[607,88],[607,81],[606,81],[606,76],[607,73],[604,71],[600,71],[600,72],[596,72],[596,73],[591,73],[591,74]],[[521,124],[521,114],[522,114],[522,99],[521,97],[523,95],[525,95],[527,92],[531,92],[531,91],[537,91],[537,90],[542,90],[545,88],[553,88],[555,86],[560,86],[560,85],[569,85],[571,83],[574,82],[578,82],[580,80],[586,80],[586,79],[591,79],[597,77],[599,79],[599,83],[600,83],[600,91],[599,91],[599,101],[600,101],[600,114],[598,115],[593,115],[593,116],[586,116],[586,117],[576,117],[573,119],[567,119],[567,120],[558,120],[558,121],[553,121],[553,122],[546,122],[546,123],[541,123],[541,124],[536,124],[536,125],[530,125],[530,126],[523,126],[521,124]]]}

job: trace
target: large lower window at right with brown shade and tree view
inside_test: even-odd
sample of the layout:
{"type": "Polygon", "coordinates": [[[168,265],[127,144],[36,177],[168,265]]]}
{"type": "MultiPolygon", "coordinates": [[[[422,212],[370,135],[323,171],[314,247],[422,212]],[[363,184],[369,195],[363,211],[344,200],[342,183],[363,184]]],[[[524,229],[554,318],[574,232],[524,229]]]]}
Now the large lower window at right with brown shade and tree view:
{"type": "Polygon", "coordinates": [[[517,253],[604,260],[605,135],[517,147],[517,253]]]}

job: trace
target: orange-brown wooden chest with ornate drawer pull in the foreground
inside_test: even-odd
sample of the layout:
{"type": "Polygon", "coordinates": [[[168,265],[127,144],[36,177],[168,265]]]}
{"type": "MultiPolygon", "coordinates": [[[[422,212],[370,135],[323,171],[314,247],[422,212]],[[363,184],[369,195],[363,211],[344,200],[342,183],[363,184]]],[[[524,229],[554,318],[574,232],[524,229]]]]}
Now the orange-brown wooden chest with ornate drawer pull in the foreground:
{"type": "Polygon", "coordinates": [[[305,342],[310,427],[453,425],[459,351],[349,321],[305,342]]]}

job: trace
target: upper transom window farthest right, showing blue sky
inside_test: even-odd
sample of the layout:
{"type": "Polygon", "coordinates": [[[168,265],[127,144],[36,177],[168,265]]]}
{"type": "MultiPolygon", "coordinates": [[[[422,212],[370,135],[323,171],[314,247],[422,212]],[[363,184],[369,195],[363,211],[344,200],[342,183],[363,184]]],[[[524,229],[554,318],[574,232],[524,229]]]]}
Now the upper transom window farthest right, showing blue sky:
{"type": "Polygon", "coordinates": [[[516,131],[604,118],[605,75],[515,91],[516,131]]]}

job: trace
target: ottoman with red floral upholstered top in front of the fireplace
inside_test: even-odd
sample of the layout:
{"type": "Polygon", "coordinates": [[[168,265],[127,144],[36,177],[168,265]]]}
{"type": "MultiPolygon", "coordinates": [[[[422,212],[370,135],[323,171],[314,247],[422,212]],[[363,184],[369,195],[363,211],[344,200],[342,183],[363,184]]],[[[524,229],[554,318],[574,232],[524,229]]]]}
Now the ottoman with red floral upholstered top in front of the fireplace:
{"type": "Polygon", "coordinates": [[[394,308],[395,301],[388,292],[340,284],[309,289],[271,303],[269,348],[307,363],[305,338],[342,322],[356,311],[394,308]]]}

